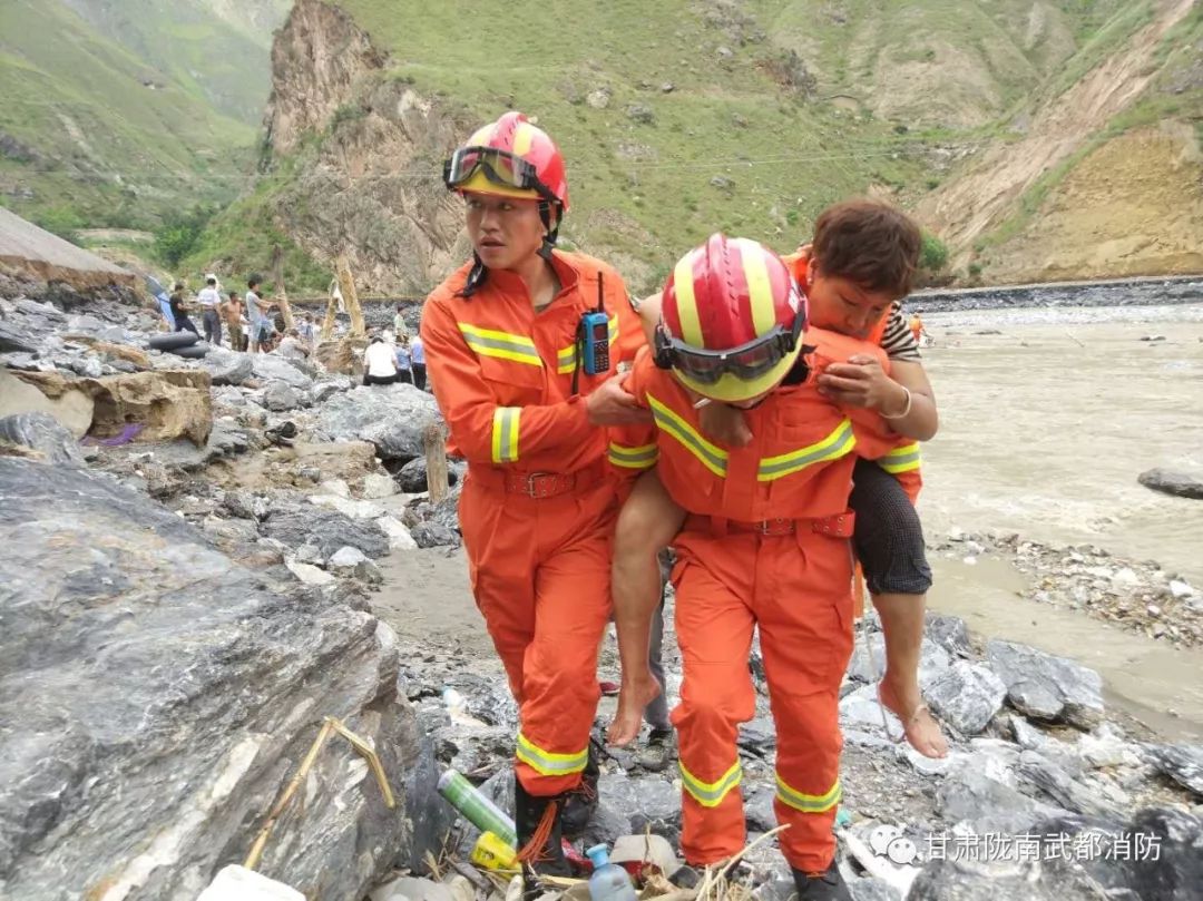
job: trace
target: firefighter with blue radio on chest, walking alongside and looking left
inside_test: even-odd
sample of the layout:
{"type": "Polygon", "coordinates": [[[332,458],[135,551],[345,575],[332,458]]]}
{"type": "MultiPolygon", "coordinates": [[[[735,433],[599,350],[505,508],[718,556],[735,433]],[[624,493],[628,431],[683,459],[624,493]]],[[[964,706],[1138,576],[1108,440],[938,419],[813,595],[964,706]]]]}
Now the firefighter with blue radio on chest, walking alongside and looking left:
{"type": "Polygon", "coordinates": [[[648,420],[617,374],[618,337],[640,326],[612,268],[553,248],[564,161],[525,115],[472,135],[444,180],[463,195],[475,253],[427,298],[421,334],[449,450],[468,461],[473,594],[518,703],[515,822],[531,888],[535,872],[568,872],[561,835],[595,804],[589,731],[617,503],[604,427],[648,420]]]}

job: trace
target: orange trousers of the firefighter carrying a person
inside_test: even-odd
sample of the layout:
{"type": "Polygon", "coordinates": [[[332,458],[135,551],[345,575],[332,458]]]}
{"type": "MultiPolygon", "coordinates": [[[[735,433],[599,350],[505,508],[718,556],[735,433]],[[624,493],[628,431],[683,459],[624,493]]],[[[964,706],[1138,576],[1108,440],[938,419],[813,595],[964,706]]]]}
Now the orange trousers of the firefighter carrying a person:
{"type": "Polygon", "coordinates": [[[777,822],[786,860],[825,870],[840,802],[840,681],[852,654],[852,555],[845,538],[800,528],[716,537],[686,522],[677,537],[676,632],[685,663],[680,735],[681,848],[694,865],[743,848],[739,724],[755,715],[748,674],[760,627],[777,729],[777,822]]]}

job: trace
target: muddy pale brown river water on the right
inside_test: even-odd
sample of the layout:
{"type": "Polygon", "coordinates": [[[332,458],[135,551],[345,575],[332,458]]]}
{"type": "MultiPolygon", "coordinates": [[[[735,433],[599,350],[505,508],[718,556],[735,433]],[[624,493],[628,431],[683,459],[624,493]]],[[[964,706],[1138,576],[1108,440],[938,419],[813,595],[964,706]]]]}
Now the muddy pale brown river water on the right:
{"type": "MultiPolygon", "coordinates": [[[[1152,467],[1203,473],[1203,304],[924,321],[941,410],[924,447],[929,541],[959,528],[1092,544],[1203,587],[1203,502],[1137,482],[1152,467]],[[1142,340],[1154,336],[1165,340],[1142,340]]],[[[934,609],[1079,659],[1103,675],[1110,703],[1167,736],[1203,737],[1203,652],[1023,598],[1025,577],[1002,561],[934,568],[934,609]]]]}

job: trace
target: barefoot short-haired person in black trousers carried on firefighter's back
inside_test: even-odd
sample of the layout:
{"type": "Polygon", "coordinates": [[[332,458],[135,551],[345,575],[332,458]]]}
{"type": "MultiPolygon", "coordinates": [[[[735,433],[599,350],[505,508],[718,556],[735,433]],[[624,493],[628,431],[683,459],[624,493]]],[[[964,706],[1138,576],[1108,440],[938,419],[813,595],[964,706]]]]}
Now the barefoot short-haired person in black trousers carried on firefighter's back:
{"type": "MultiPolygon", "coordinates": [[[[914,509],[923,485],[919,441],[935,435],[938,415],[918,344],[895,304],[911,290],[920,243],[919,227],[903,213],[857,200],[825,209],[816,221],[812,243],[784,260],[807,295],[813,326],[866,339],[889,358],[889,373],[869,355],[832,363],[818,378],[818,389],[830,401],[878,413],[897,434],[890,454],[857,462],[849,498],[857,516],[853,546],[885,636],[881,703],[901,719],[903,736],[919,753],[941,758],[948,745],[918,681],[931,569],[914,509]]],[[[640,304],[645,328],[658,320],[659,306],[659,295],[640,304]]],[[[721,445],[742,447],[753,438],[746,414],[731,405],[710,403],[700,419],[703,431],[721,445]]],[[[683,520],[685,512],[665,493],[656,472],[644,474],[616,529],[617,609],[638,606],[651,617],[660,585],[656,555],[671,544],[683,520]]],[[[659,688],[638,668],[624,668],[623,680],[610,731],[615,743],[634,739],[644,706],[659,688]]]]}

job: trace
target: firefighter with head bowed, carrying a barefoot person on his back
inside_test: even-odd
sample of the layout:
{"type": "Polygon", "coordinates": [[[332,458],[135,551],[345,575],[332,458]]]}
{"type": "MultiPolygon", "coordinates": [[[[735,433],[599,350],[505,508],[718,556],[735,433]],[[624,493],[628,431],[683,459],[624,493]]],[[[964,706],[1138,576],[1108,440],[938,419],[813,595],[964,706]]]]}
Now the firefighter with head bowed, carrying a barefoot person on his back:
{"type": "MultiPolygon", "coordinates": [[[[781,846],[808,900],[849,897],[831,832],[838,689],[853,644],[848,494],[858,455],[879,457],[896,438],[877,414],[842,409],[816,387],[825,366],[857,354],[889,366],[879,348],[806,328],[806,300],[776,254],[715,235],[674,269],[654,354],[640,355],[627,385],[654,425],[615,429],[610,446],[628,475],[657,466],[688,512],[672,574],[686,859],[712,864],[745,843],[736,736],[755,713],[747,660],[759,626],[777,728],[775,810],[789,825],[781,846]],[[746,410],[746,446],[705,438],[706,398],[746,410]]],[[[620,629],[646,628],[622,613],[620,629]]],[[[620,634],[620,650],[646,647],[646,630],[620,634]]],[[[624,669],[646,666],[629,657],[624,669]]]]}

